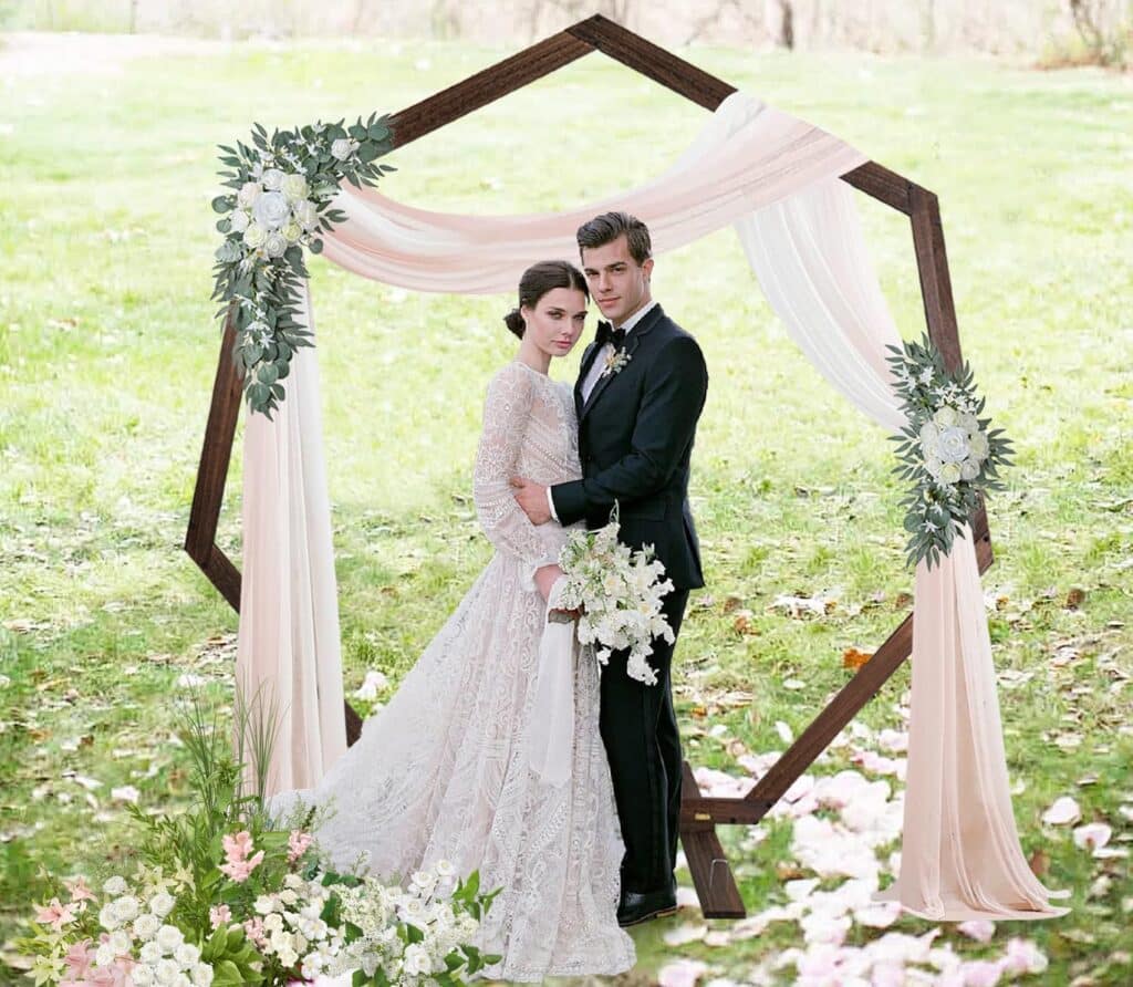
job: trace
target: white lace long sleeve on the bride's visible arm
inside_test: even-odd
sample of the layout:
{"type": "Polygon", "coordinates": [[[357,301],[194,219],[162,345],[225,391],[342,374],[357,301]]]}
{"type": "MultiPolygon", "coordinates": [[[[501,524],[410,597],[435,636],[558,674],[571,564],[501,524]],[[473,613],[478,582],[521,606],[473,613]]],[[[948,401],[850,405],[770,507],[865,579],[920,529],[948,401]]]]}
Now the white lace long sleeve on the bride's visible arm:
{"type": "Polygon", "coordinates": [[[535,570],[559,560],[516,503],[511,480],[519,475],[523,434],[535,400],[535,381],[523,367],[504,367],[488,384],[484,429],[472,473],[476,513],[496,550],[525,563],[521,582],[535,589],[535,570]]]}

